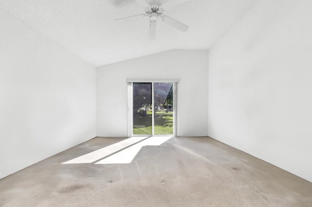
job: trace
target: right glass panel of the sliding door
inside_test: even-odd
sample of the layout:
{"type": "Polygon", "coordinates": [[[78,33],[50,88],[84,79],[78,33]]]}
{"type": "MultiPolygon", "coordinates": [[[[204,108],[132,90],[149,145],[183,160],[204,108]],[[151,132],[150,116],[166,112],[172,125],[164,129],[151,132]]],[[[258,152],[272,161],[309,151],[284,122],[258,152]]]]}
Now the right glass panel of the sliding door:
{"type": "Polygon", "coordinates": [[[173,83],[154,83],[154,134],[173,135],[173,83]]]}

